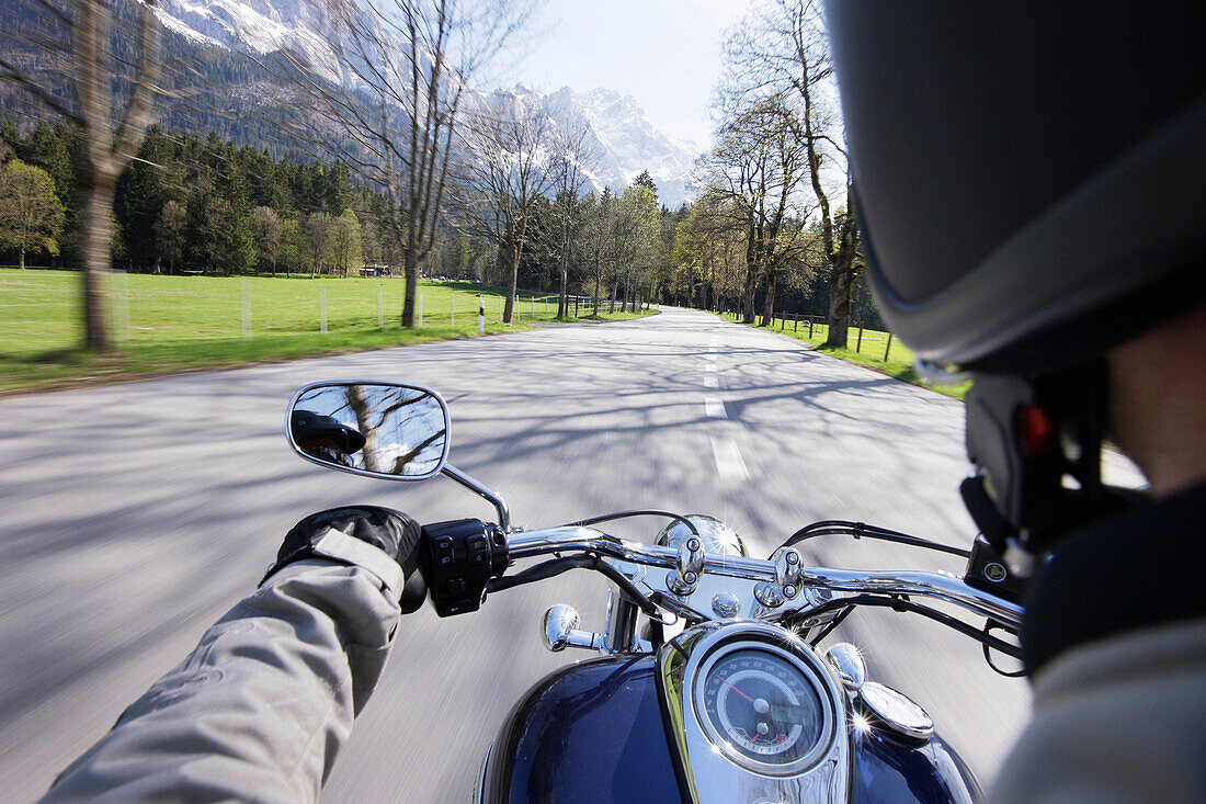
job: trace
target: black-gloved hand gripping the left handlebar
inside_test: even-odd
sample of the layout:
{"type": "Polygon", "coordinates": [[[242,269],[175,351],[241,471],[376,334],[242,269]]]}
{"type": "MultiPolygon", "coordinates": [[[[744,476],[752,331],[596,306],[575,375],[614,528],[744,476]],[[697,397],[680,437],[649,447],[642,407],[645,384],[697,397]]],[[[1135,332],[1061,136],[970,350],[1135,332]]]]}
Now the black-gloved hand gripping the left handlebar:
{"type": "Polygon", "coordinates": [[[310,514],[285,535],[276,564],[264,581],[281,567],[308,558],[329,559],[369,570],[399,595],[402,613],[417,610],[427,596],[427,585],[418,572],[417,522],[392,508],[351,506],[310,514]],[[370,544],[400,566],[397,571],[381,553],[364,549],[370,544]],[[405,581],[403,581],[403,576],[405,581]]]}

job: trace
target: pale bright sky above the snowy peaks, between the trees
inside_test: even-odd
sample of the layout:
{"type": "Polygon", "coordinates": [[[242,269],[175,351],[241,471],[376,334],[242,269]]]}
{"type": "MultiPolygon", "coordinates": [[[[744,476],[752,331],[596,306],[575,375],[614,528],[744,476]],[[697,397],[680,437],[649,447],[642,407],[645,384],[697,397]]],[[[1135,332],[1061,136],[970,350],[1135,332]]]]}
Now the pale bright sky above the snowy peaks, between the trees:
{"type": "Polygon", "coordinates": [[[725,29],[747,0],[548,0],[534,41],[500,83],[551,92],[605,87],[632,95],[667,134],[712,139],[708,99],[720,70],[725,29]]]}

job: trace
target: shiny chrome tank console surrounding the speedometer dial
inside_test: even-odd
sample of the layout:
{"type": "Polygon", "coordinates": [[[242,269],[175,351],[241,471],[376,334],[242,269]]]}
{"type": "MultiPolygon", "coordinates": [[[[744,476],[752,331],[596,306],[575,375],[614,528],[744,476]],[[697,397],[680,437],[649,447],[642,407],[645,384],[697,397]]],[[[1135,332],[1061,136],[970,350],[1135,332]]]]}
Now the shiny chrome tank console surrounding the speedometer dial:
{"type": "Polygon", "coordinates": [[[657,677],[662,705],[673,724],[673,747],[686,769],[693,802],[847,800],[853,752],[845,728],[845,695],[812,648],[791,631],[757,621],[698,625],[657,651],[657,677]],[[701,674],[714,659],[740,648],[788,657],[821,700],[824,726],[819,748],[804,757],[807,762],[798,763],[798,769],[791,769],[791,775],[769,776],[766,770],[738,764],[708,736],[696,695],[701,674]]]}

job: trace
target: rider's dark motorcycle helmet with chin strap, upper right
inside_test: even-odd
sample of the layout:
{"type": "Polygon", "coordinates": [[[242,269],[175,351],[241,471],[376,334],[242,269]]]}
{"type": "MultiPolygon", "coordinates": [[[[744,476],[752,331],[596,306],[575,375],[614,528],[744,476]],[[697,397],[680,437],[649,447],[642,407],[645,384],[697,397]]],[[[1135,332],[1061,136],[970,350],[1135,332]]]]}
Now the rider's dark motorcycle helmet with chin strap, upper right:
{"type": "Polygon", "coordinates": [[[1118,503],[1105,351],[1206,299],[1202,16],[826,8],[873,293],[920,361],[972,373],[964,499],[1021,573],[1118,503]]]}

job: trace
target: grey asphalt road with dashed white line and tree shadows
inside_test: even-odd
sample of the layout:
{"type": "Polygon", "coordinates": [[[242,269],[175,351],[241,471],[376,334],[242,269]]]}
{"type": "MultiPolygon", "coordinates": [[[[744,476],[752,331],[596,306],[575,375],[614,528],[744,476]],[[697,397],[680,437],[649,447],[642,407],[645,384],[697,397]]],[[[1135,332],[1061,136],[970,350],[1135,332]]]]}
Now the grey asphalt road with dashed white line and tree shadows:
{"type": "MultiPolygon", "coordinates": [[[[800,525],[849,518],[966,544],[962,406],[798,342],[667,310],[370,354],[0,401],[0,791],[35,798],[121,710],[254,588],[283,532],[350,502],[421,520],[491,518],[447,479],[323,471],[282,436],[318,379],[406,380],[452,410],[451,462],[499,490],[516,523],[607,511],[712,513],[765,555],[800,525]]],[[[662,523],[616,526],[651,540],[662,523]]],[[[941,554],[815,540],[810,563],[960,570],[941,554]]],[[[324,800],[466,802],[513,703],[589,653],[548,653],[554,602],[601,629],[605,583],[576,571],[484,610],[403,623],[324,800]]],[[[856,613],[870,677],[933,716],[989,780],[1029,707],[979,646],[918,617],[856,613]]]]}

